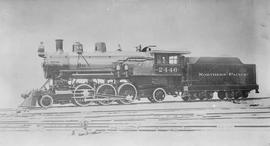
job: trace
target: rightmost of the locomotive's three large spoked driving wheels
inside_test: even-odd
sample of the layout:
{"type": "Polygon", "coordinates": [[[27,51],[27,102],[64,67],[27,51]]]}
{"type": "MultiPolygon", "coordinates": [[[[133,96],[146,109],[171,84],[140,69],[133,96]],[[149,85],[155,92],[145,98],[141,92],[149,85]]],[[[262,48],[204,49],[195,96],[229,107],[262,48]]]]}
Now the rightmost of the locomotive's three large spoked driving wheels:
{"type": "Polygon", "coordinates": [[[124,83],[118,87],[118,95],[124,96],[124,99],[116,101],[119,104],[130,104],[137,98],[137,89],[131,83],[124,83]]]}

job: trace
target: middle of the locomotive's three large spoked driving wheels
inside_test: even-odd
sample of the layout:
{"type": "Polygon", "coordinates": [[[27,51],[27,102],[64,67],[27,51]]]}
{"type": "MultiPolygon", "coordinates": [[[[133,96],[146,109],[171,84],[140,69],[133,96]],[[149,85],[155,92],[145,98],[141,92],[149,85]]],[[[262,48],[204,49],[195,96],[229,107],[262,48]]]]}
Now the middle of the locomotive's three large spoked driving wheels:
{"type": "Polygon", "coordinates": [[[111,100],[106,100],[111,96],[116,96],[116,89],[111,84],[102,84],[97,88],[96,98],[104,99],[104,101],[97,101],[100,105],[109,105],[112,103],[111,100]]]}

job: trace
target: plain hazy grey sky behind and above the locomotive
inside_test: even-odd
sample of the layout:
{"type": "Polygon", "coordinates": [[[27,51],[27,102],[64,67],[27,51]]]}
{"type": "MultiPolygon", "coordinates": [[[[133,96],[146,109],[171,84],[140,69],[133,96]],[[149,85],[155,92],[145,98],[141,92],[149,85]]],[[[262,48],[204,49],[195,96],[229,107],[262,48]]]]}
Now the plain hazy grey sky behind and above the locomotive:
{"type": "Polygon", "coordinates": [[[0,0],[0,107],[43,84],[37,47],[44,41],[53,52],[58,38],[69,52],[75,41],[89,51],[105,41],[107,50],[142,43],[237,56],[257,64],[259,96],[269,96],[269,8],[267,0],[0,0]]]}

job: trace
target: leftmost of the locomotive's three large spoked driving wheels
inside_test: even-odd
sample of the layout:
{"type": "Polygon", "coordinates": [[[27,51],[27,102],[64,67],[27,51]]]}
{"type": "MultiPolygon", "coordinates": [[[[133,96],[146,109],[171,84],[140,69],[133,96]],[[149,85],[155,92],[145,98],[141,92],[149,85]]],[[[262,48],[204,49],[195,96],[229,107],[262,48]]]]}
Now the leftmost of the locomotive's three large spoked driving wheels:
{"type": "Polygon", "coordinates": [[[91,101],[87,101],[87,99],[93,99],[94,95],[95,89],[93,87],[88,84],[81,84],[75,88],[71,101],[77,106],[88,106],[91,101]]]}

